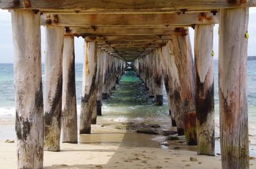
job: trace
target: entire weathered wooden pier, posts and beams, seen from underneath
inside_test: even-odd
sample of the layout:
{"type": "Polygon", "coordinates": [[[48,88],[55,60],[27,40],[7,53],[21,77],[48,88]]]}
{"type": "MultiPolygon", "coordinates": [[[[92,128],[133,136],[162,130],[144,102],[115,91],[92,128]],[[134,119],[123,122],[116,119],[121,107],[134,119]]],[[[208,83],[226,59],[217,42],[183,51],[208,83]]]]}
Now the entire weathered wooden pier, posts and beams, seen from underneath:
{"type": "Polygon", "coordinates": [[[42,168],[45,151],[90,134],[131,62],[150,97],[168,95],[173,126],[198,154],[214,155],[213,26],[220,24],[222,168],[249,168],[246,57],[250,1],[0,1],[12,13],[18,168],[42,168]],[[45,26],[45,101],[40,26],[45,26]],[[195,29],[191,48],[188,27],[195,29]],[[84,38],[77,128],[74,36],[84,38]],[[195,59],[193,59],[193,52],[195,59]],[[43,103],[44,102],[44,103],[43,103]],[[31,158],[33,157],[33,158],[31,158]]]}

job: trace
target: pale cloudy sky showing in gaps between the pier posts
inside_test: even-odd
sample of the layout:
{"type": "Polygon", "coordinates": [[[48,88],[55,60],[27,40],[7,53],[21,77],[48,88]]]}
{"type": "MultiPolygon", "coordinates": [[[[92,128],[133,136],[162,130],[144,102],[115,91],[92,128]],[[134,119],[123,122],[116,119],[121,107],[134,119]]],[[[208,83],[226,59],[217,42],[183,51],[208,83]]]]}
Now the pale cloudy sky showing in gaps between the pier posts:
{"type": "MultiPolygon", "coordinates": [[[[22,29],[20,29],[22,31],[22,29]]],[[[191,36],[191,45],[194,48],[194,30],[189,29],[191,36]]],[[[256,55],[256,8],[250,8],[249,14],[249,42],[248,55],[256,55]]],[[[45,50],[45,31],[41,27],[42,39],[42,62],[44,62],[45,50]]],[[[218,24],[214,26],[213,50],[214,59],[218,60],[218,24]]],[[[83,62],[83,38],[75,38],[76,63],[83,62]]],[[[0,63],[13,62],[13,43],[12,43],[12,22],[11,14],[6,10],[0,10],[0,63]]]]}

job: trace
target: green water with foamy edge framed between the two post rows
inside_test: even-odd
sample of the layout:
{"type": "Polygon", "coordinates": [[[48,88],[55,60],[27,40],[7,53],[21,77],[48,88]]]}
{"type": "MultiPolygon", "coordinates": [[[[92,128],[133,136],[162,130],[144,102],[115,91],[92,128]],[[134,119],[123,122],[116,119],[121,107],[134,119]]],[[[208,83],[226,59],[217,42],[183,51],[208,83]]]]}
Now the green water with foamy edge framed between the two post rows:
{"type": "MultiPolygon", "coordinates": [[[[166,94],[165,94],[166,95],[166,94]]],[[[151,122],[171,126],[168,101],[163,107],[149,98],[145,85],[134,71],[125,71],[111,97],[103,102],[102,118],[116,122],[151,122]]]]}

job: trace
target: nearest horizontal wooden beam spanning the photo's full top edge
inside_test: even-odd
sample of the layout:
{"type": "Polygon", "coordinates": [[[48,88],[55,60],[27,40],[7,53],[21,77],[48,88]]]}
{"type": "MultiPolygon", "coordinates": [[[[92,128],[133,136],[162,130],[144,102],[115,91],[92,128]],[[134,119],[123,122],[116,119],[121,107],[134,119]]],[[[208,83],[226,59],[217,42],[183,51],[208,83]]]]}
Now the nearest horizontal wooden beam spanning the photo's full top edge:
{"type": "Polygon", "coordinates": [[[196,11],[221,8],[256,6],[256,0],[1,0],[5,10],[41,10],[54,12],[152,12],[152,11],[196,11]]]}

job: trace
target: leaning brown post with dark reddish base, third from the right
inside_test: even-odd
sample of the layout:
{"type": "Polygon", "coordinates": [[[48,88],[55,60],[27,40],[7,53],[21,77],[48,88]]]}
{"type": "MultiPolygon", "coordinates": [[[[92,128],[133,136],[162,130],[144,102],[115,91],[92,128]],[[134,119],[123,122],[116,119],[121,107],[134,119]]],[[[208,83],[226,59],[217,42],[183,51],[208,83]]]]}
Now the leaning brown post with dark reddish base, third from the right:
{"type": "Polygon", "coordinates": [[[183,119],[186,142],[196,145],[195,70],[189,34],[173,35],[171,42],[175,64],[170,73],[178,78],[172,87],[174,111],[183,119]]]}

